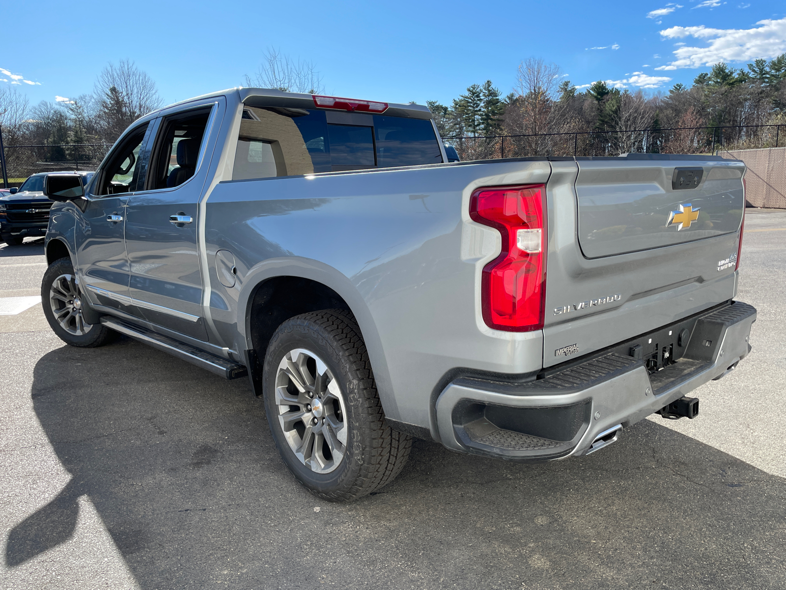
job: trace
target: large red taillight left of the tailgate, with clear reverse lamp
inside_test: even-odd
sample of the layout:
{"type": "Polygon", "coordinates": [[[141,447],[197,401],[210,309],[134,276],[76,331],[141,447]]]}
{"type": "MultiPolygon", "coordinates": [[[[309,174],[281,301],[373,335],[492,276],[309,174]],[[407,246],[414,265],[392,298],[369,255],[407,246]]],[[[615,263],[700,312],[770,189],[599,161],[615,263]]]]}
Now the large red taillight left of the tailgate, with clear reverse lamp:
{"type": "Polygon", "coordinates": [[[545,185],[500,186],[472,193],[469,216],[499,230],[500,255],[483,268],[483,320],[495,330],[543,327],[545,185]]]}

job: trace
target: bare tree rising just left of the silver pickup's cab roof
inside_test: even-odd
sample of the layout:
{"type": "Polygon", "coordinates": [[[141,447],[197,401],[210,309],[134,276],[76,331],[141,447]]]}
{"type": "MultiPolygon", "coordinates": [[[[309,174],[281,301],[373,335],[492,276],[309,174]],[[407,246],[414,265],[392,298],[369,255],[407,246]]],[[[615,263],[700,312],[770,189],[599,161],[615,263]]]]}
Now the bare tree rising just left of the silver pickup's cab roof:
{"type": "Polygon", "coordinates": [[[156,83],[128,60],[121,60],[119,65],[110,63],[104,68],[96,80],[94,96],[98,102],[98,124],[110,141],[139,117],[162,104],[156,83]]]}

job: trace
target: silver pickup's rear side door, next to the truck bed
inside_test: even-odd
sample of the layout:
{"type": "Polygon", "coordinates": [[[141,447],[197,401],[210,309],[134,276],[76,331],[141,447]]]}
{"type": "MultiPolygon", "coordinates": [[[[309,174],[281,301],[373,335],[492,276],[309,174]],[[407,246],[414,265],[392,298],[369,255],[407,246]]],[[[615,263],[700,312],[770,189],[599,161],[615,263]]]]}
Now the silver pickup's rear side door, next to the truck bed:
{"type": "Polygon", "coordinates": [[[130,297],[141,319],[203,341],[199,201],[223,103],[165,113],[152,141],[145,190],[127,205],[130,297]],[[211,129],[214,131],[211,134],[211,129]]]}

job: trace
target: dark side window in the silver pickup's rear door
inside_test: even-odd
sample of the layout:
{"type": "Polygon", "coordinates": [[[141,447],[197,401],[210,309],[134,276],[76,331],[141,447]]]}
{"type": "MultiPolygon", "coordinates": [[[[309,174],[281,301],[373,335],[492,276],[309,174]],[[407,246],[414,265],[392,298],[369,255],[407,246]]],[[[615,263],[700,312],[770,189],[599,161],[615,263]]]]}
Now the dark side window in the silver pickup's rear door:
{"type": "Polygon", "coordinates": [[[159,128],[148,190],[180,186],[196,172],[210,109],[168,116],[159,128]]]}

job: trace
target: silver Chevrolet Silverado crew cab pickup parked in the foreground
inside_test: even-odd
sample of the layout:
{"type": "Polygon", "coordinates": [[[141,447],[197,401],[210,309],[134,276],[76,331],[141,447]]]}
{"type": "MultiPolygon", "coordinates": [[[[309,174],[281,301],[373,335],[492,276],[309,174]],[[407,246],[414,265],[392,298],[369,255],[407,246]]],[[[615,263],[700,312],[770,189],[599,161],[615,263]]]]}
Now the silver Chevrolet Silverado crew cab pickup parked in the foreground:
{"type": "Polygon", "coordinates": [[[744,164],[448,163],[428,109],[233,89],[123,134],[57,201],[42,283],[74,346],[125,334],[248,377],[327,500],[412,437],[509,461],[586,455],[750,352],[734,301],[744,164]]]}

